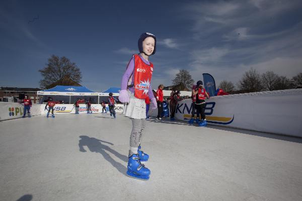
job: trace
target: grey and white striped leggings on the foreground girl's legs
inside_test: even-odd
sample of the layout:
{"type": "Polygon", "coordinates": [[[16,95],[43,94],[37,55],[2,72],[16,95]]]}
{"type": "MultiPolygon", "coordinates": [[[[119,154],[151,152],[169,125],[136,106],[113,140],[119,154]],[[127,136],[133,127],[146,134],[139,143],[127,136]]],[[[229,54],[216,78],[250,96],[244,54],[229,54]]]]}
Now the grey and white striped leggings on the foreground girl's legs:
{"type": "Polygon", "coordinates": [[[130,118],[132,121],[132,131],[130,135],[130,150],[137,150],[137,147],[140,144],[142,131],[146,125],[145,119],[133,119],[130,118]]]}

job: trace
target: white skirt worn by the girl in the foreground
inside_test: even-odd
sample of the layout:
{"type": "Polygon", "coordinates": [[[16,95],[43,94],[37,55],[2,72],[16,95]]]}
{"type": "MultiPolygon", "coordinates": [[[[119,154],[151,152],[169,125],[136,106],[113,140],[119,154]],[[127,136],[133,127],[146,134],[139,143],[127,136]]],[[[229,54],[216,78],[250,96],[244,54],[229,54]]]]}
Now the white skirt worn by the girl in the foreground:
{"type": "Polygon", "coordinates": [[[146,118],[146,104],[144,99],[134,97],[134,93],[128,91],[130,100],[126,109],[126,117],[133,119],[145,119],[146,118]]]}

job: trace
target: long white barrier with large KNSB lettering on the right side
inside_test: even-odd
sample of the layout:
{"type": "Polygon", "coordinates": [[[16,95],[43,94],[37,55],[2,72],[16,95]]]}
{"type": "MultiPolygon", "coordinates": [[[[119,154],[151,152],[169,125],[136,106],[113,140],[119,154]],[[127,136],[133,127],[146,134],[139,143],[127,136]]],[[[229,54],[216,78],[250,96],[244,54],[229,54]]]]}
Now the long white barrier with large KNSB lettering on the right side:
{"type": "MultiPolygon", "coordinates": [[[[192,100],[178,103],[175,119],[191,118],[192,100]]],[[[157,116],[156,111],[150,111],[157,116]]],[[[302,137],[302,89],[213,96],[206,99],[208,124],[302,137]]]]}

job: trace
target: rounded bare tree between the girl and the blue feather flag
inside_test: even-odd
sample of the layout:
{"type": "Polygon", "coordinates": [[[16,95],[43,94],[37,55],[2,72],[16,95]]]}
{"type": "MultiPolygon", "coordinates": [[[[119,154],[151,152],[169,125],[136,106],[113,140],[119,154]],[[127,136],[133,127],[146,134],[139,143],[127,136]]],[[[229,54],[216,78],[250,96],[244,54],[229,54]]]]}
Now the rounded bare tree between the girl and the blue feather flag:
{"type": "Polygon", "coordinates": [[[172,80],[174,85],[178,85],[179,90],[184,90],[186,88],[191,88],[194,80],[190,75],[188,70],[179,70],[179,73],[176,74],[175,78],[172,80]]]}

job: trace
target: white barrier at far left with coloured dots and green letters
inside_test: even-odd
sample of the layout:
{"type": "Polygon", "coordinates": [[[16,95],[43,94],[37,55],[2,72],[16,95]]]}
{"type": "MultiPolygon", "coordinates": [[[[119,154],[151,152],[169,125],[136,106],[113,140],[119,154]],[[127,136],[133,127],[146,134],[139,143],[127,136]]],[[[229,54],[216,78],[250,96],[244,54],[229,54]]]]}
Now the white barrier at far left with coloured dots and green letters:
{"type": "MultiPolygon", "coordinates": [[[[33,104],[32,107],[30,108],[30,113],[31,116],[41,115],[40,105],[33,104]]],[[[0,121],[21,118],[23,114],[24,114],[23,104],[0,102],[0,121]]]]}

